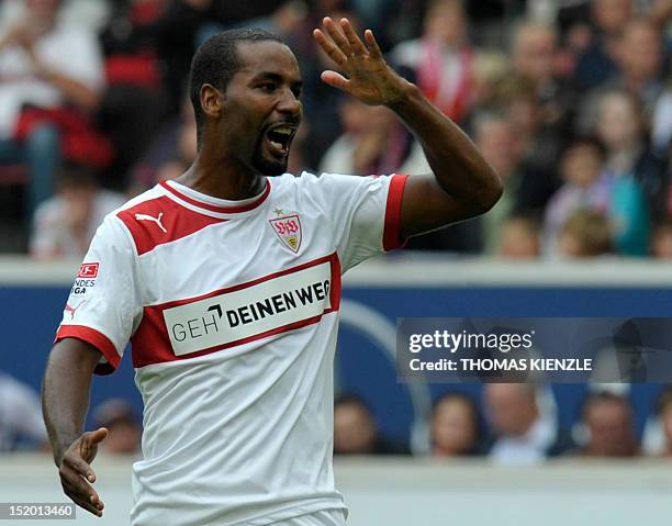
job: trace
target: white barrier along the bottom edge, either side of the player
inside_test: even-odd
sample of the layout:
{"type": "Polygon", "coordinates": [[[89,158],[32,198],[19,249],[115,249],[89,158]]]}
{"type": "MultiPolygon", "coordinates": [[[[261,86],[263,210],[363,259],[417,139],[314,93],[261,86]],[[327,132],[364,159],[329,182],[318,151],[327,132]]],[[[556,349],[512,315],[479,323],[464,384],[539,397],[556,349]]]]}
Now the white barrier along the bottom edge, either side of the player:
{"type": "MultiPolygon", "coordinates": [[[[76,521],[59,524],[128,524],[131,459],[101,457],[94,467],[104,516],[79,510],[76,521]]],[[[66,502],[47,456],[0,457],[0,502],[66,502]]],[[[350,507],[348,526],[648,526],[672,516],[672,462],[658,460],[508,468],[356,458],[338,459],[336,478],[350,507]]]]}

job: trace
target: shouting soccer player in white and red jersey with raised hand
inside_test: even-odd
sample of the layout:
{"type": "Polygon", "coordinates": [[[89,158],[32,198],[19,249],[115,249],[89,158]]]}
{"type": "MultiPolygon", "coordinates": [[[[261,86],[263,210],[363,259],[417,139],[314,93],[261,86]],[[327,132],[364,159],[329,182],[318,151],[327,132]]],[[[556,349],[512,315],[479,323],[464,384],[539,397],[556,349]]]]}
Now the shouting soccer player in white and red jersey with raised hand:
{"type": "Polygon", "coordinates": [[[407,236],[489,210],[502,184],[464,134],[366,44],[325,19],[322,79],[385,104],[434,175],[284,174],[301,76],[272,34],[208,40],[191,67],[199,156],[110,214],[65,307],[43,406],[65,493],[102,515],[82,434],[93,372],[128,339],[144,400],[134,525],[343,525],[334,488],[333,358],[340,276],[407,236]]]}

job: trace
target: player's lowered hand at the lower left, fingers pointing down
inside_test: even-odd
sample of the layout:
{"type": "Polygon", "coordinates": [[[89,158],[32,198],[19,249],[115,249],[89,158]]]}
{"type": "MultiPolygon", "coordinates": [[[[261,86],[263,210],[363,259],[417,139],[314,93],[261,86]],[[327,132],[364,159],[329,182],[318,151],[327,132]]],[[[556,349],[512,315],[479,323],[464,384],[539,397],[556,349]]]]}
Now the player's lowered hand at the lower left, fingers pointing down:
{"type": "Polygon", "coordinates": [[[66,450],[58,469],[65,494],[75,504],[98,517],[102,517],[104,505],[90,484],[96,482],[96,473],[90,465],[98,454],[98,445],[107,436],[108,429],[104,427],[83,433],[66,450]]]}

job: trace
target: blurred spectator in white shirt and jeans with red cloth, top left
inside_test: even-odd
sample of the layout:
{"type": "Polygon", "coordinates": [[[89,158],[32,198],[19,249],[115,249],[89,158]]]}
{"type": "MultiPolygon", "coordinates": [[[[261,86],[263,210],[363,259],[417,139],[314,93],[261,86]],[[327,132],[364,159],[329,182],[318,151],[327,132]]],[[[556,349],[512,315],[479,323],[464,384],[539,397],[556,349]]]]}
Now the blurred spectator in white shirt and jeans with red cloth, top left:
{"type": "Polygon", "coordinates": [[[24,3],[24,16],[0,34],[0,163],[29,165],[32,212],[52,194],[61,150],[101,164],[112,154],[80,113],[97,108],[104,82],[96,35],[60,23],[60,0],[24,3]]]}

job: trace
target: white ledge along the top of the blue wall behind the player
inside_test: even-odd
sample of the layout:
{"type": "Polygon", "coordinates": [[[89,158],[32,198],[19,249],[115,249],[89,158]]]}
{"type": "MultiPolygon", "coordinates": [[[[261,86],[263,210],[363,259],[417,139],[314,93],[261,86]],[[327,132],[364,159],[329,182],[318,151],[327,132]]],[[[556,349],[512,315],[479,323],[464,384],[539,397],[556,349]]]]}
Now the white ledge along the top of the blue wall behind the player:
{"type": "MultiPolygon", "coordinates": [[[[0,256],[0,284],[68,284],[79,261],[38,262],[0,256]]],[[[600,257],[581,261],[512,261],[450,255],[400,253],[381,256],[350,270],[346,286],[618,286],[672,283],[672,262],[600,257]]]]}

